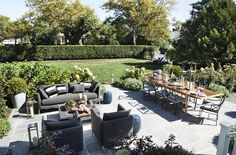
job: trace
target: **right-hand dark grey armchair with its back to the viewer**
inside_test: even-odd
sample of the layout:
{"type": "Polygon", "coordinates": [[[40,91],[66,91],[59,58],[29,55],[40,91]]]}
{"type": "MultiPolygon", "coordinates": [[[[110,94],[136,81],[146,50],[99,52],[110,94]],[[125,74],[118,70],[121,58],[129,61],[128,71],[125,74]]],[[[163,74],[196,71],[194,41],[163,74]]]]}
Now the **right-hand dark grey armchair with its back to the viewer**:
{"type": "Polygon", "coordinates": [[[101,146],[105,148],[115,146],[132,133],[133,117],[129,112],[130,110],[124,110],[118,105],[117,112],[104,113],[101,119],[98,110],[91,109],[92,132],[101,146]]]}

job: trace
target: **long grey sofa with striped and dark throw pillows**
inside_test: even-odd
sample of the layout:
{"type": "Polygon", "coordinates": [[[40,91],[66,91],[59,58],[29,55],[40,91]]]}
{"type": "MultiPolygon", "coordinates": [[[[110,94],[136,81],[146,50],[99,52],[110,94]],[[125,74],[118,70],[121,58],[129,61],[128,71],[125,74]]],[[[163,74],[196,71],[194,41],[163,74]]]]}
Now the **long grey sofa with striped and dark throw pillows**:
{"type": "Polygon", "coordinates": [[[40,85],[37,93],[39,112],[43,109],[58,108],[58,104],[64,104],[70,99],[78,101],[80,94],[86,95],[88,100],[99,98],[98,83],[93,80],[86,83],[40,85]]]}

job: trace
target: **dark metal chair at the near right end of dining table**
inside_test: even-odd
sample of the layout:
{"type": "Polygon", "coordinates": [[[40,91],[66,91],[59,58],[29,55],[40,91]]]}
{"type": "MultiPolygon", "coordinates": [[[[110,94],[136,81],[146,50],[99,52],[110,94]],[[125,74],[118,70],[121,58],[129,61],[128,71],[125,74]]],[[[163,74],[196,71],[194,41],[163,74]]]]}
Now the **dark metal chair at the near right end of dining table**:
{"type": "Polygon", "coordinates": [[[216,125],[218,121],[218,115],[222,104],[225,102],[226,94],[221,98],[210,98],[204,100],[202,106],[200,106],[199,117],[202,115],[202,112],[208,113],[208,119],[210,114],[216,115],[216,125]]]}

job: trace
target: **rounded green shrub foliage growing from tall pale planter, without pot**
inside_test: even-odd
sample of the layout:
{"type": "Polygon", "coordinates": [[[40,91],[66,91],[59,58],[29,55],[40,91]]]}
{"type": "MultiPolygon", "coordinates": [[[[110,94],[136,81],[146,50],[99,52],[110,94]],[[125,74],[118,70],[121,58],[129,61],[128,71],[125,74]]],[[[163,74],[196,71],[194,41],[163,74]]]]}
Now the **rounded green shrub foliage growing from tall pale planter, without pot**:
{"type": "Polygon", "coordinates": [[[12,78],[7,81],[6,92],[8,95],[16,95],[18,93],[26,93],[28,91],[28,86],[26,81],[22,78],[12,78]]]}

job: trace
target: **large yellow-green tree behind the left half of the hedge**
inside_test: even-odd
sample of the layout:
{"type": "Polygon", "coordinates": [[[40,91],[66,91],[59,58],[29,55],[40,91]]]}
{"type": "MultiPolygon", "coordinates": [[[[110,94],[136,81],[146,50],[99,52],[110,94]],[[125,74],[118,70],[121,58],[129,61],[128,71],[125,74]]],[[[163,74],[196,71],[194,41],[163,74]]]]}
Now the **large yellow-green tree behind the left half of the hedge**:
{"type": "Polygon", "coordinates": [[[59,42],[60,33],[69,44],[78,44],[99,22],[94,10],[83,6],[80,0],[27,0],[27,6],[35,44],[55,44],[59,42]]]}

